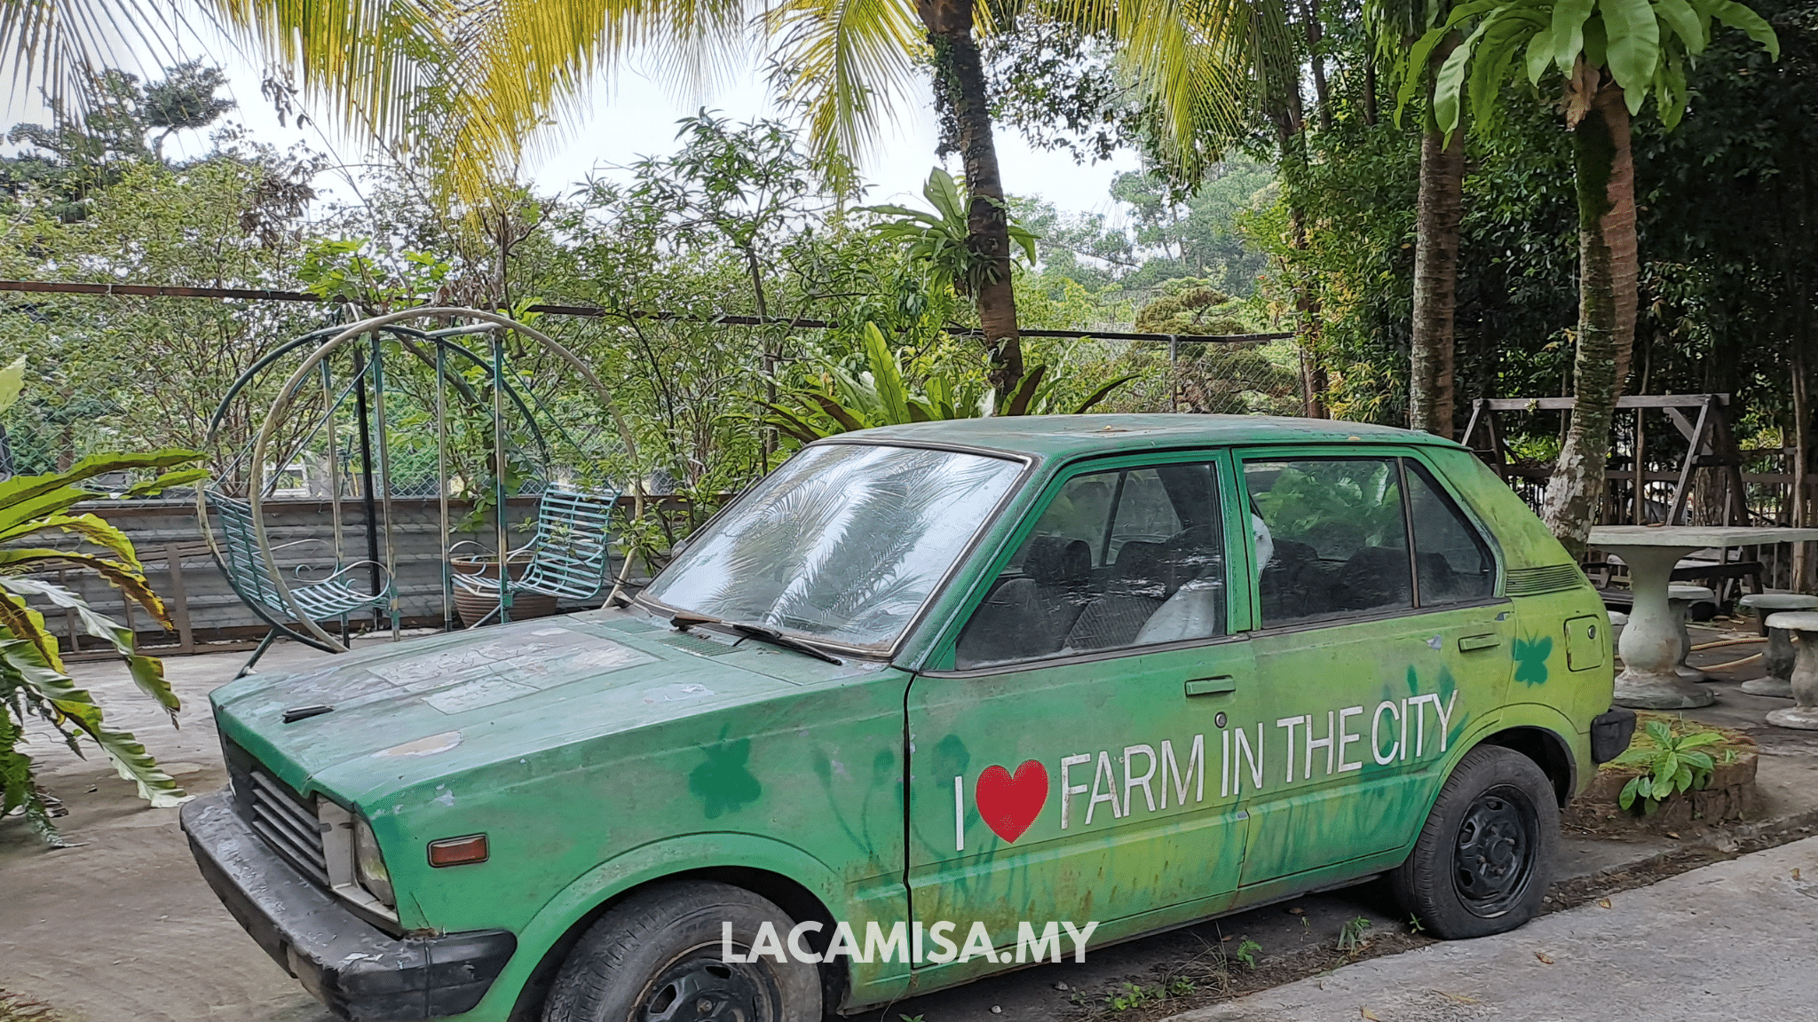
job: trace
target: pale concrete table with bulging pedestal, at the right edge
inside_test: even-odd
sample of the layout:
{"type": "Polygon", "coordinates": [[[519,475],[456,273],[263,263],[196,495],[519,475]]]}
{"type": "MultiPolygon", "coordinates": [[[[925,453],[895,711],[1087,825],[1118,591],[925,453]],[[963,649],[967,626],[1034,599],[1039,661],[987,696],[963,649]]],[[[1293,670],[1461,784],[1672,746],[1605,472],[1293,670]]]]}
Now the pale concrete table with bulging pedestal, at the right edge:
{"type": "MultiPolygon", "coordinates": [[[[1753,526],[1594,526],[1591,546],[1605,549],[1629,566],[1634,607],[1622,629],[1622,675],[1616,676],[1616,706],[1636,709],[1691,709],[1711,706],[1711,689],[1678,675],[1680,622],[1667,604],[1673,566],[1705,547],[1745,547],[1756,544],[1796,544],[1818,540],[1818,529],[1782,529],[1753,526]]],[[[1776,711],[1783,713],[1783,711],[1776,711]]]]}

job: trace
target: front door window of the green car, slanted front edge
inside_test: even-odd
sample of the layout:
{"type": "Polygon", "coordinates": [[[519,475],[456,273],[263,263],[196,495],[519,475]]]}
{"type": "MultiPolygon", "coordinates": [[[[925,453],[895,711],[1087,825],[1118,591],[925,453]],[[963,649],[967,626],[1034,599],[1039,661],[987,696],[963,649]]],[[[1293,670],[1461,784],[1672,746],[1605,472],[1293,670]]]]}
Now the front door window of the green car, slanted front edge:
{"type": "Polygon", "coordinates": [[[1067,480],[960,633],[956,669],[1225,631],[1224,526],[1204,462],[1067,480]]]}

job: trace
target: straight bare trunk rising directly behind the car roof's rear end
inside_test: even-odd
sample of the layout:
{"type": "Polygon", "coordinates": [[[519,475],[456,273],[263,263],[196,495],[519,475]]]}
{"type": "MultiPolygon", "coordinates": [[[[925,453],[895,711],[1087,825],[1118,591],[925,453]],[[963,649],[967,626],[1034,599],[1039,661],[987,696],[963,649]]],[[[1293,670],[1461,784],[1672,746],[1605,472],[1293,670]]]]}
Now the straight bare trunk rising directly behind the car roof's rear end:
{"type": "Polygon", "coordinates": [[[1465,133],[1451,142],[1433,118],[1433,80],[1458,47],[1458,33],[1433,47],[1427,115],[1420,136],[1420,198],[1414,211],[1414,336],[1407,375],[1407,426],[1453,438],[1458,225],[1463,218],[1465,133]]]}

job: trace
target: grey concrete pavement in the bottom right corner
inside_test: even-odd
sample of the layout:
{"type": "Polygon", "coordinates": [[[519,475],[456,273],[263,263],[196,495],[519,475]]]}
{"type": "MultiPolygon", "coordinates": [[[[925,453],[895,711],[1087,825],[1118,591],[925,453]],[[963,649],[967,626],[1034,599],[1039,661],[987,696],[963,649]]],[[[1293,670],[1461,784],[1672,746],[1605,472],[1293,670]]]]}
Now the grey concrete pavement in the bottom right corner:
{"type": "Polygon", "coordinates": [[[1169,1022],[1818,1018],[1818,838],[1169,1022]]]}

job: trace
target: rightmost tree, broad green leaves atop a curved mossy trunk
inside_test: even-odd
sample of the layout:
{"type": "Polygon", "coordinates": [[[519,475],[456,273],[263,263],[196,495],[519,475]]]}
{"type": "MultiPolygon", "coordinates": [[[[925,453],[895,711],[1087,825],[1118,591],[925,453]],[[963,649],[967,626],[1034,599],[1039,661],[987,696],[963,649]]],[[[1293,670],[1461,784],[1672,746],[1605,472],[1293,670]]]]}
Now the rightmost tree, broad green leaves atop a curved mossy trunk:
{"type": "Polygon", "coordinates": [[[1654,95],[1662,124],[1678,125],[1685,65],[1711,40],[1713,20],[1780,56],[1774,29],[1734,0],[1474,0],[1407,55],[1407,69],[1420,69],[1449,33],[1469,29],[1434,76],[1433,109],[1447,133],[1458,129],[1467,96],[1471,115],[1489,120],[1513,69],[1534,85],[1558,71],[1578,187],[1578,402],[1542,516],[1573,553],[1583,549],[1603,496],[1611,418],[1634,349],[1640,260],[1629,118],[1654,95]]]}

